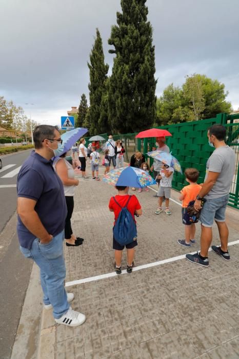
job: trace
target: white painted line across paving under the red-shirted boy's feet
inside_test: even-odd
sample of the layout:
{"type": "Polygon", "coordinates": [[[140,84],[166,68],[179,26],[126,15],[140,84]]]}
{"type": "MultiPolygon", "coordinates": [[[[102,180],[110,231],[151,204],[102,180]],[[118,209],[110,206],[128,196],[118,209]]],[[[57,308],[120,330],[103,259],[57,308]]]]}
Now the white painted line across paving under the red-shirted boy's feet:
{"type": "MultiPolygon", "coordinates": [[[[228,243],[228,246],[234,246],[235,244],[239,244],[239,240],[238,241],[234,241],[234,242],[229,242],[228,243]]],[[[211,251],[212,249],[209,248],[209,252],[211,251]]],[[[194,252],[191,252],[191,253],[187,253],[187,254],[194,254],[194,252]]],[[[148,263],[148,264],[143,264],[142,266],[138,266],[138,267],[135,267],[133,269],[133,271],[137,271],[137,270],[141,270],[141,269],[146,269],[146,268],[150,268],[150,267],[155,267],[155,266],[160,266],[162,264],[165,264],[165,263],[170,263],[170,262],[175,262],[175,261],[179,261],[179,260],[182,260],[183,258],[186,257],[186,254],[182,254],[182,255],[178,255],[176,257],[172,257],[172,258],[167,258],[166,260],[163,260],[163,261],[158,261],[158,262],[153,262],[153,263],[148,263]]],[[[124,269],[122,271],[122,274],[125,274],[127,273],[126,269],[124,269]]],[[[65,287],[70,287],[70,286],[74,286],[75,284],[83,284],[83,283],[89,283],[89,282],[94,282],[94,281],[98,281],[98,280],[101,280],[101,279],[105,279],[105,278],[109,278],[109,277],[115,277],[117,276],[118,274],[116,274],[115,272],[111,272],[111,273],[106,273],[106,274],[100,274],[100,275],[95,275],[94,277],[88,277],[88,278],[83,278],[83,279],[79,279],[79,280],[76,280],[76,281],[71,281],[71,282],[67,282],[65,283],[65,287]]]]}

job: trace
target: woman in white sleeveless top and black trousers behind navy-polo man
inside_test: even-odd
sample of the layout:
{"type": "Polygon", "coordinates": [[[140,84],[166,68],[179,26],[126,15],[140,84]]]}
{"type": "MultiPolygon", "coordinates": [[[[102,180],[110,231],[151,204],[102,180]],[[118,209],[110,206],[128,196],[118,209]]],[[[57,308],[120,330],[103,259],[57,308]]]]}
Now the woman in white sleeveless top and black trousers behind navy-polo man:
{"type": "Polygon", "coordinates": [[[53,168],[58,174],[58,176],[61,178],[64,187],[66,205],[67,205],[67,217],[65,223],[65,240],[66,240],[66,246],[70,247],[70,246],[82,245],[84,239],[80,237],[76,237],[73,234],[71,228],[71,216],[74,209],[74,193],[76,186],[78,186],[79,184],[79,181],[78,179],[75,179],[74,169],[72,165],[65,159],[66,154],[67,152],[62,154],[60,157],[55,157],[53,162],[53,168]]]}

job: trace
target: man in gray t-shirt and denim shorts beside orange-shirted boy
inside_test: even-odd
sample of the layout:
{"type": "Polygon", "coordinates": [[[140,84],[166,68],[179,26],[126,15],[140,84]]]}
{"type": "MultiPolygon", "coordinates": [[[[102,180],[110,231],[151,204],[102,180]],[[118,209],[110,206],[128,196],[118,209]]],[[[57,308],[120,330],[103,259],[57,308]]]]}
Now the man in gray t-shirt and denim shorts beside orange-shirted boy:
{"type": "Polygon", "coordinates": [[[224,260],[230,261],[227,248],[229,232],[225,222],[225,212],[235,173],[235,153],[226,145],[225,136],[226,129],[222,125],[213,125],[208,130],[209,145],[215,150],[208,159],[205,182],[194,204],[194,208],[199,211],[202,208],[203,198],[206,200],[200,213],[201,251],[196,254],[187,254],[186,258],[204,267],[209,266],[208,249],[212,242],[214,220],[220,234],[221,247],[212,246],[212,250],[224,260]]]}

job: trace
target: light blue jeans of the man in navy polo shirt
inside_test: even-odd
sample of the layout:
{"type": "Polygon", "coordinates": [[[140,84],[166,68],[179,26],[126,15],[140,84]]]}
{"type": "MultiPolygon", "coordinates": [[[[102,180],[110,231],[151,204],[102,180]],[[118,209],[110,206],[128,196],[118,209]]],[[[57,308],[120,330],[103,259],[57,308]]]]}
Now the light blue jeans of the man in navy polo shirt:
{"type": "Polygon", "coordinates": [[[41,244],[38,238],[35,238],[30,250],[20,246],[24,256],[32,259],[41,270],[43,302],[52,305],[53,316],[56,319],[61,318],[69,309],[64,287],[66,267],[63,240],[64,231],[53,237],[48,244],[41,244]]]}

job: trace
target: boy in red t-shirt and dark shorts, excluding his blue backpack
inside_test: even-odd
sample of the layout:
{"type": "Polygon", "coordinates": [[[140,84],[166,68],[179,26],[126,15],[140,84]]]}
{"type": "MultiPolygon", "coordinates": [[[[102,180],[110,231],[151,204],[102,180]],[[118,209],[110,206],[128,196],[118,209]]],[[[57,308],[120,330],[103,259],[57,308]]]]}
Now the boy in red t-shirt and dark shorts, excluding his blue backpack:
{"type": "MultiPolygon", "coordinates": [[[[115,200],[118,202],[118,204],[124,207],[129,199],[129,194],[128,194],[129,187],[115,186],[115,188],[118,190],[118,194],[115,196],[115,200]]],[[[114,212],[114,218],[116,222],[118,215],[121,212],[121,207],[115,203],[113,197],[110,198],[109,209],[111,212],[114,212]]],[[[138,202],[138,199],[135,195],[131,196],[127,209],[132,214],[133,218],[134,218],[134,214],[142,215],[140,202],[138,202]]],[[[127,244],[126,246],[121,246],[118,242],[115,241],[113,237],[113,249],[114,249],[114,258],[115,258],[114,268],[117,274],[121,274],[122,253],[125,247],[127,249],[127,272],[128,273],[132,272],[135,246],[137,246],[137,240],[127,244]]]]}

